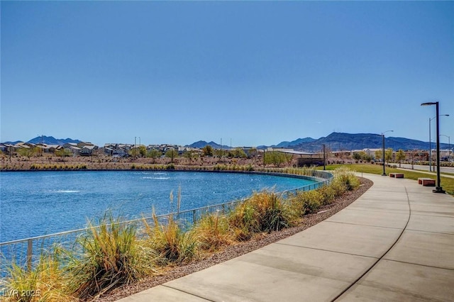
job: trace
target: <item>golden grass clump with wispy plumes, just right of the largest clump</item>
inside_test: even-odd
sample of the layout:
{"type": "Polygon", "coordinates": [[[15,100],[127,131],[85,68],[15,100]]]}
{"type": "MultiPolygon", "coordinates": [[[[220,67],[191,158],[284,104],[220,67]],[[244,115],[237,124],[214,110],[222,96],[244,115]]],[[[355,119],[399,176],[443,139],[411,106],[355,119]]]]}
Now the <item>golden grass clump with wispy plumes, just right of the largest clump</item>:
{"type": "Polygon", "coordinates": [[[153,213],[153,222],[152,226],[143,220],[148,245],[160,255],[160,264],[189,262],[196,258],[198,242],[193,232],[180,228],[172,215],[164,225],[153,213]]]}

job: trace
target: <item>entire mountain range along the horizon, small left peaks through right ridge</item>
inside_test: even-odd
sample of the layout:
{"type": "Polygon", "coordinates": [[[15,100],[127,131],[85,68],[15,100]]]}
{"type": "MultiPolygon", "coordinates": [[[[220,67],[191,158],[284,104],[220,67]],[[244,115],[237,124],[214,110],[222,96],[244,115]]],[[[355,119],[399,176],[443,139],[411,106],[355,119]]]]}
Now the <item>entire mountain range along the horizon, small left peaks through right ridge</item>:
{"type": "MultiPolygon", "coordinates": [[[[17,142],[6,142],[10,144],[16,144],[17,142]]],[[[47,145],[65,145],[67,142],[81,142],[81,140],[73,140],[71,138],[65,139],[58,139],[52,136],[37,136],[29,140],[28,142],[38,144],[43,142],[47,145]]],[[[203,148],[206,145],[210,145],[214,147],[214,149],[223,149],[223,150],[230,150],[231,147],[228,145],[219,145],[216,142],[206,142],[204,140],[199,140],[198,142],[193,142],[191,145],[187,145],[186,147],[194,147],[194,148],[203,148]]],[[[314,138],[299,138],[297,140],[292,140],[290,142],[283,141],[279,142],[277,145],[265,146],[260,145],[258,149],[266,149],[267,147],[283,147],[294,149],[298,151],[306,151],[306,152],[319,152],[323,145],[325,145],[331,151],[341,151],[341,150],[361,150],[364,148],[369,149],[380,149],[382,147],[382,135],[373,134],[373,133],[357,133],[357,134],[350,134],[350,133],[336,133],[333,132],[330,135],[314,139],[314,138]]],[[[385,147],[392,148],[393,150],[428,150],[428,142],[423,142],[421,140],[411,140],[409,138],[394,138],[394,137],[387,137],[385,138],[385,147]]],[[[435,142],[432,143],[432,148],[435,148],[435,142]]],[[[441,143],[441,149],[448,149],[451,147],[448,144],[441,143]]]]}

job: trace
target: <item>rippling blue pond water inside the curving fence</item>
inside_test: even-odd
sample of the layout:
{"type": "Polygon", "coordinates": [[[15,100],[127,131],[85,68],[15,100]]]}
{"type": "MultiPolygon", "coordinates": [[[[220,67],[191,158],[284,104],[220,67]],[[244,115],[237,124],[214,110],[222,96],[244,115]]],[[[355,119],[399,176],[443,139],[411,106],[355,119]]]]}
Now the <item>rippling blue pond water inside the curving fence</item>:
{"type": "Polygon", "coordinates": [[[1,172],[0,242],[74,230],[107,210],[126,219],[224,203],[314,181],[206,172],[1,172]],[[170,202],[170,192],[174,199],[170,202]]]}

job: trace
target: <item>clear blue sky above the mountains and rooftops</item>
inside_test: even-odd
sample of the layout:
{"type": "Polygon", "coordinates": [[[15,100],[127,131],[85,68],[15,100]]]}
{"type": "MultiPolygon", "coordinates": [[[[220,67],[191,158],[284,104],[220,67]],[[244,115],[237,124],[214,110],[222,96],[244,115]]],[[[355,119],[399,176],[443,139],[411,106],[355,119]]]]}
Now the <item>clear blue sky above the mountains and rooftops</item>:
{"type": "Polygon", "coordinates": [[[435,100],[454,141],[452,1],[1,1],[2,142],[428,141],[435,100]]]}

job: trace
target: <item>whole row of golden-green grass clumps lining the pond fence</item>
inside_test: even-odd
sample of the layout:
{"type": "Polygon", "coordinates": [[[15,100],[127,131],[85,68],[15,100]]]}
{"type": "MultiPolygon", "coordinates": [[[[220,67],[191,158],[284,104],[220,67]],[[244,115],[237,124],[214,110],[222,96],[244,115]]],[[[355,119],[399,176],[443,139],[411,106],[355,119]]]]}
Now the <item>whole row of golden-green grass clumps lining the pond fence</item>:
{"type": "MultiPolygon", "coordinates": [[[[302,170],[287,169],[285,173],[309,172],[302,170]]],[[[191,226],[180,225],[173,216],[166,223],[154,216],[150,224],[145,219],[125,224],[106,213],[74,242],[81,248],[55,246],[43,252],[31,269],[11,263],[0,281],[0,293],[3,301],[92,301],[229,245],[298,225],[307,214],[360,186],[358,177],[348,169],[333,174],[331,184],[311,191],[256,192],[232,211],[207,213],[191,226]]]]}

